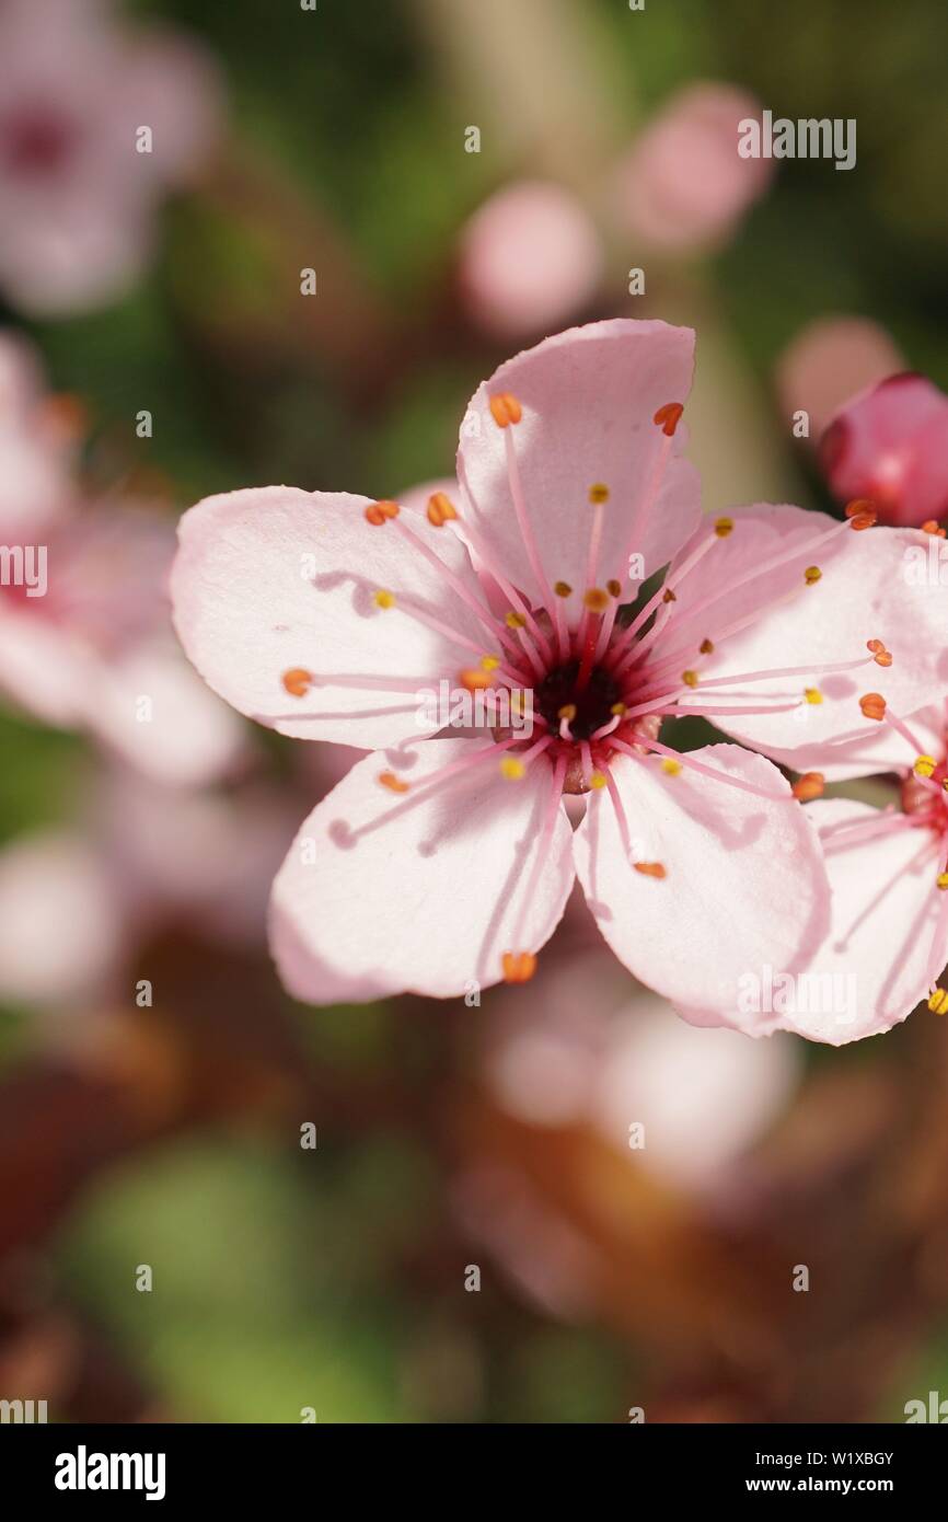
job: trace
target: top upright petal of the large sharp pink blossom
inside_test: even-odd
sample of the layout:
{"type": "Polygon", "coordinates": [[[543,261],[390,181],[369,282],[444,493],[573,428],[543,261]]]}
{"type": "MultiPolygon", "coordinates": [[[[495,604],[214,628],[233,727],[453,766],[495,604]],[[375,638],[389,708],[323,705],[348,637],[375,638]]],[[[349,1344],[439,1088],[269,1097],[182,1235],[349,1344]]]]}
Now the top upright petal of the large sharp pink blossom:
{"type": "Polygon", "coordinates": [[[665,565],[698,519],[698,478],[680,458],[679,426],[657,505],[636,528],[653,463],[668,443],[653,423],[660,406],[685,402],[691,388],[694,333],[665,323],[613,318],[574,327],[508,359],[475,393],[461,425],[458,475],[472,498],[475,530],[507,577],[539,604],[542,587],[523,546],[505,460],[510,432],[531,531],[549,583],[584,587],[592,508],[589,489],[609,487],[598,584],[628,589],[628,556],[644,557],[645,575],[665,565]],[[522,422],[501,429],[490,397],[511,393],[522,422]],[[630,537],[633,542],[630,542],[630,537]]]}

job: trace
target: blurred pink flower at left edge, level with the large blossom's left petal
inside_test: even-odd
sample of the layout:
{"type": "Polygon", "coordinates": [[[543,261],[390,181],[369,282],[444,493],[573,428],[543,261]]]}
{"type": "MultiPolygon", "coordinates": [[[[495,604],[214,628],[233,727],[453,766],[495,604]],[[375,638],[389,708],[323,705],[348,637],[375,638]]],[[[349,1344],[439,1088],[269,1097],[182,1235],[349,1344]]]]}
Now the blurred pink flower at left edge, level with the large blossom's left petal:
{"type": "Polygon", "coordinates": [[[67,469],[75,416],[43,396],[30,352],[6,336],[0,391],[0,691],[157,781],[228,770],[242,729],[170,629],[172,522],[142,504],[82,502],[67,469]]]}

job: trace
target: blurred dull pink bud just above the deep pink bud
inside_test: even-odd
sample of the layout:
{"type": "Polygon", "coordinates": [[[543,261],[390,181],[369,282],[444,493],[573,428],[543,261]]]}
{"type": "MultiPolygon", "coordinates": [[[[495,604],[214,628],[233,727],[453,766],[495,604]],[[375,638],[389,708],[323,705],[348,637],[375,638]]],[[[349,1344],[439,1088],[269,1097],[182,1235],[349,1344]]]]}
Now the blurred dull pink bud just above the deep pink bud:
{"type": "Polygon", "coordinates": [[[785,419],[806,412],[810,440],[816,444],[845,402],[904,368],[902,353],[878,323],[866,317],[822,317],[803,327],[778,361],[781,411],[785,419]]]}

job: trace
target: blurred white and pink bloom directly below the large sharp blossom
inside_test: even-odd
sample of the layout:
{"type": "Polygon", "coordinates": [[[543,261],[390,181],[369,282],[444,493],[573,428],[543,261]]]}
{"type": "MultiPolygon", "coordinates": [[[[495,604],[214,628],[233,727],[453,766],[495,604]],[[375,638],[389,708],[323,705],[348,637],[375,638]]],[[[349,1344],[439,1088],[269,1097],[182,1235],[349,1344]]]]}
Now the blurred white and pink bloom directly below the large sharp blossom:
{"type": "Polygon", "coordinates": [[[665,1183],[711,1189],[788,1100],[794,1043],[670,1020],[663,1000],[618,974],[603,950],[557,957],[554,947],[528,997],[493,994],[493,1097],[533,1126],[596,1131],[665,1183]]]}

